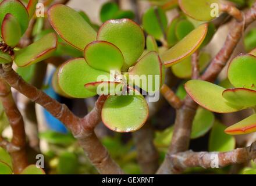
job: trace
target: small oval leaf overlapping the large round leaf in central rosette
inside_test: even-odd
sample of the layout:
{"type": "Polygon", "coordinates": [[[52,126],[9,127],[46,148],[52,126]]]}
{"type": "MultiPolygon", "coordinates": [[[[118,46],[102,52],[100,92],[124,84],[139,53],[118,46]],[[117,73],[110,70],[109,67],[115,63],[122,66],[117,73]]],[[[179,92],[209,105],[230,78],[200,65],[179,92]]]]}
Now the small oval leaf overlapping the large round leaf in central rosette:
{"type": "Polygon", "coordinates": [[[110,73],[120,72],[125,59],[118,47],[106,41],[93,41],[84,49],[84,58],[88,65],[97,70],[110,73]]]}

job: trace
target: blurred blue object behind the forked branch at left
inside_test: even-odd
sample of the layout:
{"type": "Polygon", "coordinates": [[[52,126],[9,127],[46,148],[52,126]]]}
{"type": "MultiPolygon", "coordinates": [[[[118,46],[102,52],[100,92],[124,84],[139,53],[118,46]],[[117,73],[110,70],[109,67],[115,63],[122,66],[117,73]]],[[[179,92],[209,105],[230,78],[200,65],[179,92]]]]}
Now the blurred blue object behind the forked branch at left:
{"type": "MultiPolygon", "coordinates": [[[[54,71],[52,70],[50,75],[46,77],[45,84],[48,85],[48,87],[44,90],[44,92],[49,95],[51,98],[56,99],[56,101],[60,101],[60,96],[56,94],[54,91],[54,88],[52,88],[52,76],[54,75],[54,71]]],[[[47,110],[43,109],[43,114],[45,117],[45,121],[47,122],[47,126],[56,132],[59,133],[67,133],[67,128],[64,126],[64,124],[56,119],[54,116],[52,116],[47,110]]]]}

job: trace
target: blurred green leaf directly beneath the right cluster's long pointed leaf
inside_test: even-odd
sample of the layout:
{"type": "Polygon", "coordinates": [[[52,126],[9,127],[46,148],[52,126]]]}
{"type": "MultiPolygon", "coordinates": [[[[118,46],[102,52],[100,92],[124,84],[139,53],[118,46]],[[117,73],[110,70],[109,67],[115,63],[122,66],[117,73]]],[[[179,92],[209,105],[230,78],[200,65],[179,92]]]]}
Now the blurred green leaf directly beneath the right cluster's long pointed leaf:
{"type": "Polygon", "coordinates": [[[205,135],[214,124],[214,114],[209,110],[198,108],[193,120],[191,139],[205,135]]]}

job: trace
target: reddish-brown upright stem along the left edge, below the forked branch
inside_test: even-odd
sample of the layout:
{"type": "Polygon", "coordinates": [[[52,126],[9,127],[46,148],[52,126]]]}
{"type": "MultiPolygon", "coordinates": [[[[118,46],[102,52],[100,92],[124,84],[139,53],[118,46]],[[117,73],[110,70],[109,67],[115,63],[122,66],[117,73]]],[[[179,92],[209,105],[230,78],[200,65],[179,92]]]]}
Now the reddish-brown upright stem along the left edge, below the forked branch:
{"type": "Polygon", "coordinates": [[[6,116],[8,117],[10,127],[12,127],[13,137],[11,144],[15,148],[13,148],[12,151],[9,149],[9,153],[12,157],[13,171],[15,174],[19,174],[28,166],[24,122],[20,111],[17,109],[15,101],[13,101],[10,86],[2,78],[0,79],[0,98],[6,116]]]}

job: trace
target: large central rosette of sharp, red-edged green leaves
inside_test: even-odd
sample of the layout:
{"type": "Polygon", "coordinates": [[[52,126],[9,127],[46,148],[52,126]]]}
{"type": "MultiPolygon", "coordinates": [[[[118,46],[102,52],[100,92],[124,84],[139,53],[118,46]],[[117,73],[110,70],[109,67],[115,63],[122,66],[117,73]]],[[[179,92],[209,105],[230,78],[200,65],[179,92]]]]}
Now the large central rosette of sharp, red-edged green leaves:
{"type": "MultiPolygon", "coordinates": [[[[48,16],[52,27],[63,40],[84,51],[85,60],[70,60],[59,67],[55,74],[58,81],[55,88],[64,94],[76,98],[96,95],[95,87],[102,83],[97,82],[97,77],[108,77],[109,70],[116,70],[118,73],[125,71],[126,74],[138,76],[159,75],[160,81],[163,81],[163,65],[158,54],[149,52],[140,58],[144,51],[144,34],[140,26],[131,20],[109,20],[96,33],[76,11],[65,5],[52,6],[48,16]],[[140,60],[136,63],[138,58],[140,60]],[[133,69],[127,71],[133,65],[133,69]]],[[[191,55],[200,46],[206,34],[207,24],[202,24],[175,47],[163,53],[161,59],[165,66],[174,65],[191,55]]],[[[111,84],[109,80],[105,81],[106,86],[111,84]]],[[[141,84],[136,85],[141,87],[141,84]]],[[[157,90],[159,87],[152,92],[157,90]]],[[[144,124],[147,116],[148,107],[142,95],[109,96],[102,109],[102,120],[106,126],[120,132],[137,130],[144,124]]]]}

